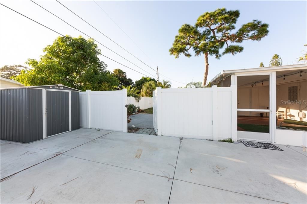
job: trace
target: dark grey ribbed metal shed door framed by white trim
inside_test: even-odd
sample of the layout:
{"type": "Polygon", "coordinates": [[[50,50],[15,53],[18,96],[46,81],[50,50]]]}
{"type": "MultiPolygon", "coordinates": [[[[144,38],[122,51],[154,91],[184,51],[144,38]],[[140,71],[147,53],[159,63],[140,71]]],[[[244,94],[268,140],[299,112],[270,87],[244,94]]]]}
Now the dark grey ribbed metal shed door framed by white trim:
{"type": "Polygon", "coordinates": [[[47,137],[69,131],[69,92],[46,90],[47,137]]]}

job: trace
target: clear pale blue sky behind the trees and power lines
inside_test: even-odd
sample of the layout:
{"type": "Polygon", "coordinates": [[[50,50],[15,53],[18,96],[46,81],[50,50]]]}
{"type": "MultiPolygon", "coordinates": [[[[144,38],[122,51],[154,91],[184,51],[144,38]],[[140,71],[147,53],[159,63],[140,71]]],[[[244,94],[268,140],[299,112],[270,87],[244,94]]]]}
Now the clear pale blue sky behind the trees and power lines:
{"type": "MultiPolygon", "coordinates": [[[[34,0],[35,1],[35,0],[34,0]]],[[[55,1],[35,1],[49,9],[65,21],[71,23],[94,39],[110,47],[115,52],[134,62],[142,69],[155,75],[156,73],[142,62],[129,55],[126,51],[112,43],[106,37],[95,31],[74,14],[55,1]]],[[[274,54],[282,57],[283,64],[293,64],[301,55],[306,44],[306,1],[97,1],[110,17],[138,44],[148,55],[148,58],[131,40],[107,17],[93,1],[60,1],[86,21],[98,28],[112,40],[137,56],[149,66],[159,66],[159,72],[173,80],[187,83],[202,81],[204,74],[204,58],[186,58],[180,56],[175,59],[169,55],[175,35],[182,24],[194,25],[196,19],[207,11],[217,8],[239,9],[240,17],[237,28],[253,19],[261,20],[270,25],[270,33],[260,42],[245,41],[241,43],[244,51],[237,55],[224,55],[217,60],[209,57],[208,80],[211,80],[222,70],[258,67],[260,62],[268,66],[274,54]]],[[[30,1],[1,1],[20,13],[41,22],[44,25],[71,36],[81,33],[53,17],[30,1]]],[[[37,25],[9,9],[0,6],[0,66],[24,64],[28,58],[39,59],[43,55],[42,49],[51,44],[58,34],[37,25]]],[[[86,36],[84,36],[86,37],[86,36]]],[[[146,72],[126,62],[116,54],[99,45],[104,55],[115,59],[144,74],[146,72]]],[[[100,56],[107,63],[108,70],[120,68],[127,72],[127,76],[134,81],[142,77],[100,56]]],[[[149,75],[149,74],[147,74],[149,75]]],[[[161,79],[168,79],[159,76],[161,79]]],[[[177,88],[183,84],[172,81],[177,88]]]]}

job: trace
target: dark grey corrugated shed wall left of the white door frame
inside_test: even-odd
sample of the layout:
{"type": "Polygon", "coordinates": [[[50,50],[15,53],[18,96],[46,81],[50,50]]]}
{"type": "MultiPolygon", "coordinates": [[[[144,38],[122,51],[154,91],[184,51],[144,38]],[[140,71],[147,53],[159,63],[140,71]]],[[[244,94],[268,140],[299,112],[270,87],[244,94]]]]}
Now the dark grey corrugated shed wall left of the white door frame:
{"type": "Polygon", "coordinates": [[[42,139],[42,90],[25,88],[0,91],[0,138],[24,143],[42,139]]]}

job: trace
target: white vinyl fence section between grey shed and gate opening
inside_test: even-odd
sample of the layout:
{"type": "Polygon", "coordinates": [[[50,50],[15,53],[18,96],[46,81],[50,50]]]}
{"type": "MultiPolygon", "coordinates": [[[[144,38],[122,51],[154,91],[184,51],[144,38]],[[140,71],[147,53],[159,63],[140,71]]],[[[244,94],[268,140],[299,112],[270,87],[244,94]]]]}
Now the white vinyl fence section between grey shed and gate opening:
{"type": "Polygon", "coordinates": [[[127,132],[127,90],[80,92],[80,127],[127,132]]]}

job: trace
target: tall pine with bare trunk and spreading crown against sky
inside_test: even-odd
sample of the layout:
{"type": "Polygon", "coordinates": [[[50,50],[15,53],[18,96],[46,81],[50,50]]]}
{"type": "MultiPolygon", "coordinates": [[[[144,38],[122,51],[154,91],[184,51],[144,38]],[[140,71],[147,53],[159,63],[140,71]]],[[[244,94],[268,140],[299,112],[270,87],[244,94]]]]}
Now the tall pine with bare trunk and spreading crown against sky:
{"type": "Polygon", "coordinates": [[[189,50],[192,48],[195,55],[204,55],[205,72],[202,86],[207,83],[208,76],[208,55],[214,55],[220,59],[222,55],[235,55],[243,51],[238,44],[244,40],[261,40],[269,31],[269,25],[258,20],[243,24],[236,32],[235,24],[240,16],[239,10],[216,9],[213,12],[206,12],[198,17],[196,24],[184,24],[175,36],[173,46],[169,49],[171,55],[178,58],[180,54],[191,57],[189,50]],[[220,54],[220,49],[224,51],[220,54]]]}

